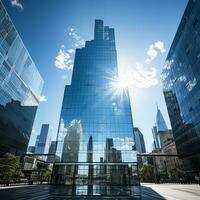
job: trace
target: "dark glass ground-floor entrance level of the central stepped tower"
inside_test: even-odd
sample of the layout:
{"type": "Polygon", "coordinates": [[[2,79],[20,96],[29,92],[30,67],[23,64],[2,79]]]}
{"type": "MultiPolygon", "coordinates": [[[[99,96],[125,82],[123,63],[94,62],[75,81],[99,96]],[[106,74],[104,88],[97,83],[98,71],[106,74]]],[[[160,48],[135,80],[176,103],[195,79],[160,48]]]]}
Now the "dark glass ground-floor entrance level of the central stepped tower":
{"type": "Polygon", "coordinates": [[[68,195],[137,196],[137,163],[54,163],[51,183],[68,186],[68,195]]]}

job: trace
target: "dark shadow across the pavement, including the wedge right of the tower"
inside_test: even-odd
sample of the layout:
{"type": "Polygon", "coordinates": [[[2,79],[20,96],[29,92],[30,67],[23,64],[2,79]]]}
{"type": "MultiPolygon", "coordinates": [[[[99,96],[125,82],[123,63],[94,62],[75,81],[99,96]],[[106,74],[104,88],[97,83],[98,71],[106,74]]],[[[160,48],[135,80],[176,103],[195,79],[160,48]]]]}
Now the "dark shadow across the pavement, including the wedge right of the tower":
{"type": "MultiPolygon", "coordinates": [[[[116,192],[116,191],[113,191],[116,192]]],[[[71,189],[60,186],[49,185],[33,185],[30,187],[18,187],[0,190],[1,200],[25,200],[25,199],[38,199],[38,200],[70,200],[70,199],[108,199],[108,200],[128,200],[128,199],[141,199],[141,200],[165,200],[159,193],[148,186],[141,186],[141,198],[131,196],[123,196],[123,193],[115,193],[115,195],[95,195],[95,196],[71,196],[71,189]]],[[[138,196],[139,197],[139,196],[138,196]]]]}

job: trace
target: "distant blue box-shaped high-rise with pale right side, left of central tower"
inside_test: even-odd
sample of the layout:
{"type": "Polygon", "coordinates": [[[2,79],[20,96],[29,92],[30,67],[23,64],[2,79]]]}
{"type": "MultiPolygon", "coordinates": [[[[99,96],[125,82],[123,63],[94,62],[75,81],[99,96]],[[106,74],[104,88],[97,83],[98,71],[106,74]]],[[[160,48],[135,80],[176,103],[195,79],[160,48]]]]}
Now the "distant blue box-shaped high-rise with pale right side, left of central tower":
{"type": "MultiPolygon", "coordinates": [[[[52,127],[50,124],[42,124],[39,141],[35,149],[36,154],[48,154],[51,144],[52,127]]],[[[38,139],[38,138],[37,138],[38,139]]]]}

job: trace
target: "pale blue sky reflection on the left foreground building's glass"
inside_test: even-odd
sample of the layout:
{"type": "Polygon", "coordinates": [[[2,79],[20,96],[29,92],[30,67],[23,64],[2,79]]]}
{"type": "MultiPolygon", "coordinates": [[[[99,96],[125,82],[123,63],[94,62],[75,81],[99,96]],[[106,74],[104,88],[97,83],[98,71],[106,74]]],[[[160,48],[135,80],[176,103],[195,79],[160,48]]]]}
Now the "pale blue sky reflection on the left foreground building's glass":
{"type": "Polygon", "coordinates": [[[43,79],[1,2],[0,11],[0,105],[36,106],[43,79]]]}

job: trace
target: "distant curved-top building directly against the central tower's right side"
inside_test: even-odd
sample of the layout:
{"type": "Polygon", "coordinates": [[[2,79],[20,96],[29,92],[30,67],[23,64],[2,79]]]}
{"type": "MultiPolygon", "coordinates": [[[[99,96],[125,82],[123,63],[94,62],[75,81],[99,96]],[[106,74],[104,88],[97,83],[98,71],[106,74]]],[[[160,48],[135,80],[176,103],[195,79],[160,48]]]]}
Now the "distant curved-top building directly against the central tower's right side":
{"type": "Polygon", "coordinates": [[[146,147],[144,142],[144,137],[139,128],[134,128],[136,151],[139,153],[145,153],[146,147]]]}

